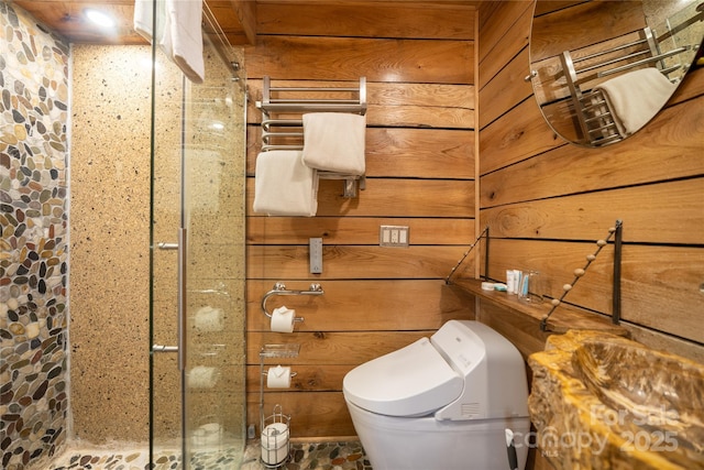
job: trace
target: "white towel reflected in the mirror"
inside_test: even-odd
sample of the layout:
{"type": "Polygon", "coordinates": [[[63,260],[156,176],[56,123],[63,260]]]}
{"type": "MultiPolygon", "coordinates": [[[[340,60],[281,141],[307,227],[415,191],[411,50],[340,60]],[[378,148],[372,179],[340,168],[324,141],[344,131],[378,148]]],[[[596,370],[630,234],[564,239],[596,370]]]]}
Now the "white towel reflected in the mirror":
{"type": "Polygon", "coordinates": [[[642,128],[668,102],[676,84],[657,68],[629,72],[595,87],[604,92],[622,136],[642,128]]]}

